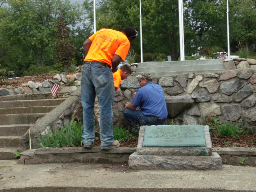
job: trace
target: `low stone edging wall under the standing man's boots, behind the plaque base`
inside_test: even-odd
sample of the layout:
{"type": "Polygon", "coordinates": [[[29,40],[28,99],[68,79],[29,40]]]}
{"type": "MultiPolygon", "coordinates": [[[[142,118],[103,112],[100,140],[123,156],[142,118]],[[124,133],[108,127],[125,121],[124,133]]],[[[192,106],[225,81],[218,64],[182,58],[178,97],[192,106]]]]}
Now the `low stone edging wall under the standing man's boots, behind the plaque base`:
{"type": "MultiPolygon", "coordinates": [[[[119,147],[100,150],[100,147],[85,149],[83,147],[40,148],[26,150],[20,154],[19,164],[60,163],[60,162],[93,162],[93,163],[127,163],[130,154],[136,148],[119,147]]],[[[224,164],[256,165],[256,148],[227,147],[212,148],[224,164]]]]}

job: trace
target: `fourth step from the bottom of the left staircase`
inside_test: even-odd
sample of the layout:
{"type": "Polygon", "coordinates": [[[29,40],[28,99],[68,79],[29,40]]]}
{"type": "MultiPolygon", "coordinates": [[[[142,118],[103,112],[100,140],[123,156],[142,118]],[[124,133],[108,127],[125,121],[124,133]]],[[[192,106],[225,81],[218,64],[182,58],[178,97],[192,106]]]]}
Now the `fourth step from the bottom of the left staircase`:
{"type": "Polygon", "coordinates": [[[47,113],[0,115],[0,125],[31,124],[47,113]]]}

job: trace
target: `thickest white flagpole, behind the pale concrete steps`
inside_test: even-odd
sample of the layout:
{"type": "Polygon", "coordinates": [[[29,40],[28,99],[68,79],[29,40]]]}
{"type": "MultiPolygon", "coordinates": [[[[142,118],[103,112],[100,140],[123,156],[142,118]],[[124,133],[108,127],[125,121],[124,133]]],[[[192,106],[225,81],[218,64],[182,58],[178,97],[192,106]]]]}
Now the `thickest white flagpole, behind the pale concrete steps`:
{"type": "Polygon", "coordinates": [[[179,24],[180,24],[180,60],[185,60],[184,54],[184,29],[183,29],[183,1],[179,0],[179,24]]]}

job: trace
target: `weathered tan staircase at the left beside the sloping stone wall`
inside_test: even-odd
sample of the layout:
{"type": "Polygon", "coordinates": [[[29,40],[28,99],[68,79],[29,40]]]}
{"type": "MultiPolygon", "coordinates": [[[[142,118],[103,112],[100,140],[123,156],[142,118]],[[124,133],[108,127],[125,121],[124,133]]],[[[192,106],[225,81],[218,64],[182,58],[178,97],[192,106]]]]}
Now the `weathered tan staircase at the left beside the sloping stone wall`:
{"type": "Polygon", "coordinates": [[[19,139],[31,123],[46,115],[66,98],[52,99],[51,93],[0,97],[0,160],[15,159],[19,139]]]}

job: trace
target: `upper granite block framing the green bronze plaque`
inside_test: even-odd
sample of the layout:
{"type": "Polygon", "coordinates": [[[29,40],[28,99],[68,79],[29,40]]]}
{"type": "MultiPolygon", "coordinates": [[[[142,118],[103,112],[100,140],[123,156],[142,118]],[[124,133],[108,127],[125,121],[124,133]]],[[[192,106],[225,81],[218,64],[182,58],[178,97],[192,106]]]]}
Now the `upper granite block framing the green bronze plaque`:
{"type": "MultiPolygon", "coordinates": [[[[152,127],[162,127],[161,125],[152,127]]],[[[165,126],[166,127],[166,126],[165,126]]],[[[184,147],[144,147],[144,132],[145,126],[140,126],[140,133],[138,138],[137,153],[138,155],[176,155],[176,156],[211,156],[212,142],[210,138],[209,127],[204,126],[205,147],[200,146],[184,146],[184,147]]]]}

